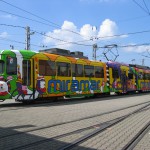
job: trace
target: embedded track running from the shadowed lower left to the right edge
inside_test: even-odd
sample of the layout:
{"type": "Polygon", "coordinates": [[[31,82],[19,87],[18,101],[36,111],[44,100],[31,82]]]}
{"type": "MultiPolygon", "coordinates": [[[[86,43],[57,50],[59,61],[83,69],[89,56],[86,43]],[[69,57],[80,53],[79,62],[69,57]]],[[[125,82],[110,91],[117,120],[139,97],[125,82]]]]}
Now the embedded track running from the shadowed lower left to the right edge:
{"type": "MultiPolygon", "coordinates": [[[[39,139],[36,139],[36,141],[32,141],[32,142],[28,141],[27,143],[26,142],[22,143],[22,145],[20,146],[13,144],[14,147],[11,147],[11,148],[13,149],[32,149],[32,148],[40,149],[41,146],[47,147],[49,145],[49,148],[47,147],[46,149],[65,150],[65,149],[72,149],[72,148],[74,149],[76,147],[82,149],[84,147],[82,146],[82,144],[88,139],[93,138],[94,136],[101,134],[103,132],[108,132],[109,128],[111,128],[112,126],[115,126],[119,124],[120,122],[123,122],[126,119],[135,116],[136,114],[139,114],[139,113],[144,114],[146,111],[149,111],[149,105],[150,105],[149,103],[142,104],[142,106],[136,106],[134,109],[133,107],[126,108],[126,111],[125,109],[118,110],[118,111],[111,112],[108,114],[103,114],[99,116],[91,116],[89,118],[82,118],[81,120],[76,120],[74,122],[68,122],[68,123],[66,122],[64,124],[59,124],[59,125],[49,126],[49,127],[47,126],[45,128],[33,129],[33,130],[25,131],[23,133],[19,132],[17,134],[6,135],[6,136],[1,137],[0,141],[1,140],[9,141],[9,139],[19,138],[19,137],[21,140],[21,135],[22,136],[28,135],[28,134],[36,135],[36,132],[42,131],[43,135],[45,132],[47,133],[46,138],[39,138],[39,139]],[[102,119],[102,117],[104,120],[102,119]],[[72,129],[70,129],[70,131],[67,130],[69,126],[72,126],[72,129]],[[57,131],[59,129],[60,133],[57,133],[57,134],[53,133],[50,135],[50,131],[52,131],[53,129],[55,130],[57,129],[57,131]],[[62,129],[64,129],[64,131],[62,131],[62,129]]],[[[7,149],[7,148],[8,148],[7,146],[3,147],[3,149],[7,149]]]]}

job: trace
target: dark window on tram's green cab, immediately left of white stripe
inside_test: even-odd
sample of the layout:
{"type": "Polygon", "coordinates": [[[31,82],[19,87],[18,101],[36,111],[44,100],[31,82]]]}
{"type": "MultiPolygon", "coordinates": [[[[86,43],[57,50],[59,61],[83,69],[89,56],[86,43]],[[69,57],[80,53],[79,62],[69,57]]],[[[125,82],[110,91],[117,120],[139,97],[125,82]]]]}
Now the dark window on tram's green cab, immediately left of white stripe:
{"type": "Polygon", "coordinates": [[[6,72],[9,75],[17,74],[17,58],[7,57],[7,66],[6,72]]]}

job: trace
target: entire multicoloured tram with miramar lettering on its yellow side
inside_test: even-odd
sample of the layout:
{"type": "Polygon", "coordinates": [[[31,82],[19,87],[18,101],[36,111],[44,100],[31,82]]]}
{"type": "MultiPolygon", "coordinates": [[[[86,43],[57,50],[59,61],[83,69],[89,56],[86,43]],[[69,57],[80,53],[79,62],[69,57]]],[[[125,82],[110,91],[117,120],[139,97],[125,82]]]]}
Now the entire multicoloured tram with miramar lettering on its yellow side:
{"type": "Polygon", "coordinates": [[[61,49],[0,51],[0,100],[150,91],[149,67],[90,61],[78,54],[61,49]]]}

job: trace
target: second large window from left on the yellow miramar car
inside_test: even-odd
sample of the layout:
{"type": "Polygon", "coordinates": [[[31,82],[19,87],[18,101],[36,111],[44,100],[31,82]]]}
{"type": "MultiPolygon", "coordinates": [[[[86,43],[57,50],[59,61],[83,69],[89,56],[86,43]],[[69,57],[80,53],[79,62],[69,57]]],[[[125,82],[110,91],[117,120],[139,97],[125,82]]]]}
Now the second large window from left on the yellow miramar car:
{"type": "Polygon", "coordinates": [[[69,63],[57,62],[57,75],[58,76],[71,76],[71,66],[69,63]]]}

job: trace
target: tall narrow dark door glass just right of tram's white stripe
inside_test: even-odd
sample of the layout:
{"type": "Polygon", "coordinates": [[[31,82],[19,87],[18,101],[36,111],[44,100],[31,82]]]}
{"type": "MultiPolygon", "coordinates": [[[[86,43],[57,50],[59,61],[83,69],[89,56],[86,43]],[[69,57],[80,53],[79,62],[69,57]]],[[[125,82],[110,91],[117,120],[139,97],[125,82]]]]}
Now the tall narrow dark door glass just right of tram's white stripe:
{"type": "Polygon", "coordinates": [[[31,85],[31,61],[23,60],[23,85],[31,85]]]}

